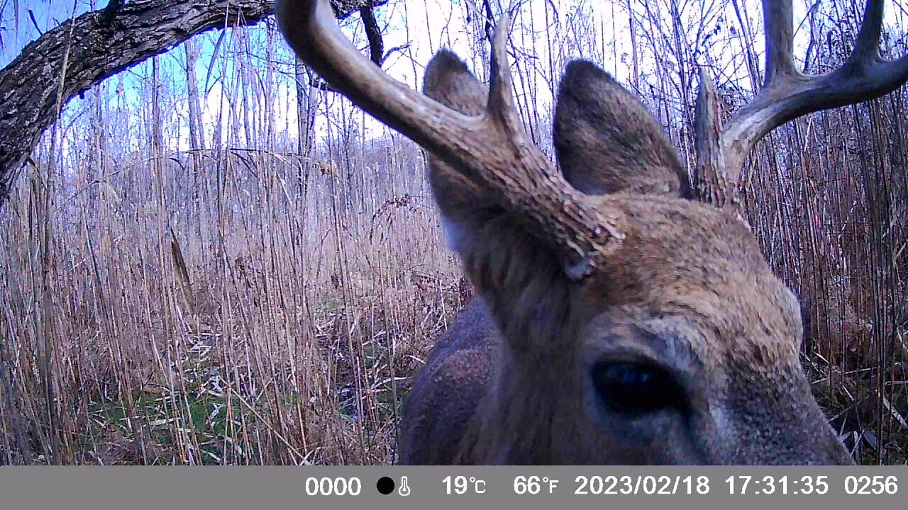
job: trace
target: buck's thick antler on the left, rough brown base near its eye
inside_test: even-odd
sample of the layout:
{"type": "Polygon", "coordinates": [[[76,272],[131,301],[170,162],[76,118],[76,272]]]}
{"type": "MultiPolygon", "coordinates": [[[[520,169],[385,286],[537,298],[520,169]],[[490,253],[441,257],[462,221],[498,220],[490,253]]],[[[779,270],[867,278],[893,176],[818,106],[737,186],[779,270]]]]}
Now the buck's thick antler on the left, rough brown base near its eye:
{"type": "Polygon", "coordinates": [[[469,117],[392,80],[350,44],[328,0],[279,0],[281,32],[303,62],[382,123],[460,172],[528,231],[566,257],[579,279],[624,239],[622,216],[593,206],[539,152],[514,106],[506,44],[508,15],[498,22],[486,112],[469,117]]]}

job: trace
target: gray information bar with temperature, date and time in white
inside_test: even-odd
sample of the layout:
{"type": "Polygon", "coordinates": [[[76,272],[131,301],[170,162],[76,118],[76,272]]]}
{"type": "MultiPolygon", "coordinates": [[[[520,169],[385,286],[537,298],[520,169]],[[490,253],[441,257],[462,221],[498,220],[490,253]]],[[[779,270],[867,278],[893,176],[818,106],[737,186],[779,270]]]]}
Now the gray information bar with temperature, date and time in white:
{"type": "Polygon", "coordinates": [[[908,508],[908,466],[2,467],[0,509],[908,508]],[[393,490],[380,494],[377,484],[393,490]],[[404,481],[404,477],[406,480],[404,481]],[[401,493],[401,488],[406,488],[401,493]],[[406,495],[401,495],[406,494],[406,495]]]}

